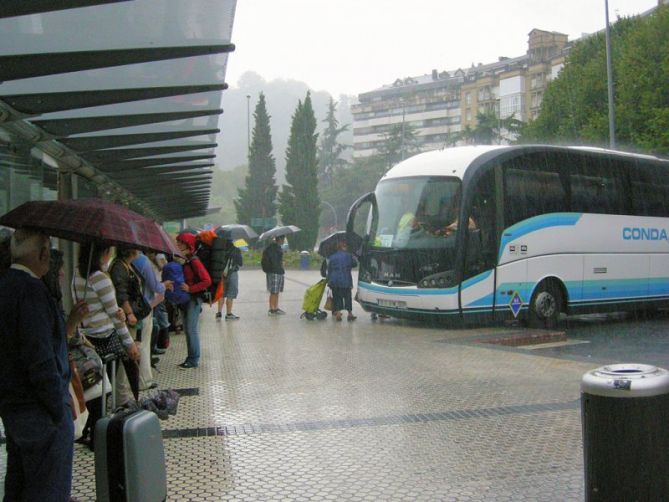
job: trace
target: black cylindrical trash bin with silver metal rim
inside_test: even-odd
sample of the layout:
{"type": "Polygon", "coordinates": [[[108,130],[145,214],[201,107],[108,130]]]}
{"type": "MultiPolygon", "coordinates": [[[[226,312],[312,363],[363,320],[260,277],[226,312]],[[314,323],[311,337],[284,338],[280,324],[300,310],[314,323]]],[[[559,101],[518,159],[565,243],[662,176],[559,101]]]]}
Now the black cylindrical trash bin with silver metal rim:
{"type": "Polygon", "coordinates": [[[669,496],[669,371],[611,364],[581,382],[585,500],[669,496]]]}

